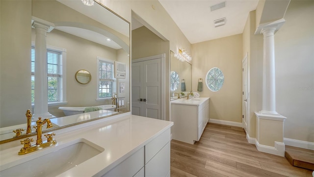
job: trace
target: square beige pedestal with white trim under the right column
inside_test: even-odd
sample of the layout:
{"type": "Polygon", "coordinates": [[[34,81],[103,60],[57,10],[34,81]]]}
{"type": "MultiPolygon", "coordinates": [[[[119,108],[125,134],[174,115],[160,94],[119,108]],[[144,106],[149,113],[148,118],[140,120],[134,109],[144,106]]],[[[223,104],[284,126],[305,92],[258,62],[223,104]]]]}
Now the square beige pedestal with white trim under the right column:
{"type": "Polygon", "coordinates": [[[260,152],[285,156],[284,121],[286,117],[280,114],[256,115],[256,147],[260,152]]]}

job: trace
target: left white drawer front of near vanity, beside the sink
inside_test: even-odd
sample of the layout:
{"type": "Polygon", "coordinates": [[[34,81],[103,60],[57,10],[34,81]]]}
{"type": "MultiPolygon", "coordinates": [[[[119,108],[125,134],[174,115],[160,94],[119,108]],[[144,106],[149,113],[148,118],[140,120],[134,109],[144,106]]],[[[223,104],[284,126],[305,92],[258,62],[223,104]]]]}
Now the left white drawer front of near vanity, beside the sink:
{"type": "Polygon", "coordinates": [[[103,177],[133,177],[142,167],[144,167],[144,147],[115,166],[103,177]]]}

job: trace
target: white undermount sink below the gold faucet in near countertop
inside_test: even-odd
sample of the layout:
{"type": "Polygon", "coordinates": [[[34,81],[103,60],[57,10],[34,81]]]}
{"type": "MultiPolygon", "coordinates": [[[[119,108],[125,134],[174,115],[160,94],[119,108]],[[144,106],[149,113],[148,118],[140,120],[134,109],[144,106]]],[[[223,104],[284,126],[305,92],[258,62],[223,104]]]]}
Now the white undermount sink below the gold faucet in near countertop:
{"type": "Polygon", "coordinates": [[[50,149],[52,152],[47,150],[42,156],[3,170],[0,174],[2,177],[55,177],[105,151],[86,139],[75,140],[54,151],[56,148],[50,149]]]}

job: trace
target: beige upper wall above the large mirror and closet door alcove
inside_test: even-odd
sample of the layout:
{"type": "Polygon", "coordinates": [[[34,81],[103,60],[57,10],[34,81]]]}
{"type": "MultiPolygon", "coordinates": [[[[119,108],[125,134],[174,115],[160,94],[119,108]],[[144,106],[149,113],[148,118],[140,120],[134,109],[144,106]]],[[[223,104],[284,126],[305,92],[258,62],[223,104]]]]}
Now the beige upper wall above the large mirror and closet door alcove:
{"type": "MultiPolygon", "coordinates": [[[[170,42],[170,50],[184,48],[191,53],[191,44],[158,0],[100,0],[105,6],[131,22],[131,13],[143,19],[151,31],[170,42]],[[153,8],[154,7],[154,8],[153,8]]],[[[159,37],[161,37],[159,36],[159,37]]],[[[132,54],[133,55],[133,54],[132,54]]]]}

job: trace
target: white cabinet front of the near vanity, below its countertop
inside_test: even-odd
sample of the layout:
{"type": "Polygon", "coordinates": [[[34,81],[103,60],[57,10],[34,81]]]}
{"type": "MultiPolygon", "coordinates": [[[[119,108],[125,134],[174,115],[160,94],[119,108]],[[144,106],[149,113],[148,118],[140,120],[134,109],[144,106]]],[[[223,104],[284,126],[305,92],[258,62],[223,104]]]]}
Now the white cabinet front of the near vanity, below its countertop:
{"type": "Polygon", "coordinates": [[[169,175],[170,128],[131,154],[103,177],[167,177],[169,175]]]}

